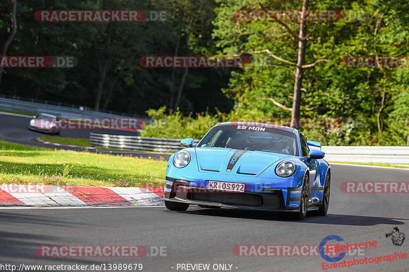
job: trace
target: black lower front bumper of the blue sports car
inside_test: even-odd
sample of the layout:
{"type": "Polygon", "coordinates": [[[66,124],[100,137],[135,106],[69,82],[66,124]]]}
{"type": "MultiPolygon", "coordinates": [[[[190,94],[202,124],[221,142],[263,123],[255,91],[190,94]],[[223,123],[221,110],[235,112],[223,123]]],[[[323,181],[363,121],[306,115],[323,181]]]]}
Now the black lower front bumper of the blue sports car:
{"type": "Polygon", "coordinates": [[[300,197],[294,197],[291,191],[297,192],[301,188],[286,189],[287,197],[284,197],[283,190],[280,188],[269,188],[265,192],[223,192],[208,190],[203,187],[192,186],[187,182],[167,178],[164,200],[220,208],[297,212],[301,200],[301,191],[300,197]],[[290,194],[292,197],[290,197],[290,194]]]}

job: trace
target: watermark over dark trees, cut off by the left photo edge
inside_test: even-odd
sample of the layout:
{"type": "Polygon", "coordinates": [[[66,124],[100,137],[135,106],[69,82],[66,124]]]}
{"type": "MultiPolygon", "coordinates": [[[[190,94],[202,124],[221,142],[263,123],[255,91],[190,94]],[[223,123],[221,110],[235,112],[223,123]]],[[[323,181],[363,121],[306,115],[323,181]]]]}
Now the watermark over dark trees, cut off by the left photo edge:
{"type": "Polygon", "coordinates": [[[73,68],[78,60],[73,56],[3,56],[2,68],[73,68]]]}

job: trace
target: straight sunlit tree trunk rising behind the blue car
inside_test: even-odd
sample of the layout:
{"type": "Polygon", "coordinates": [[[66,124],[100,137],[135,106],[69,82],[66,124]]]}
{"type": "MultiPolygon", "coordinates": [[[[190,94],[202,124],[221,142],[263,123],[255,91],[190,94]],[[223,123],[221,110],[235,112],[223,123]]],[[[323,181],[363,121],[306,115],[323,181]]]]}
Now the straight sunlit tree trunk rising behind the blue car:
{"type": "Polygon", "coordinates": [[[303,20],[304,12],[308,10],[309,0],[303,1],[302,16],[300,19],[300,33],[298,40],[298,59],[296,67],[296,77],[294,81],[294,94],[292,97],[291,110],[291,127],[298,127],[298,120],[300,118],[300,104],[301,104],[301,88],[303,85],[303,68],[305,63],[305,36],[307,32],[307,21],[303,20]]]}

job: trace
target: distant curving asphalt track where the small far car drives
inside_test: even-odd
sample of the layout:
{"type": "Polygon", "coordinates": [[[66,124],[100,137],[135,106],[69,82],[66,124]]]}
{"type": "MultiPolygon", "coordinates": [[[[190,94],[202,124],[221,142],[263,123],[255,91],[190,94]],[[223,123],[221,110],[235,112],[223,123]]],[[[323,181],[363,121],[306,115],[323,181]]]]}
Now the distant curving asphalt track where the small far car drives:
{"type": "MultiPolygon", "coordinates": [[[[42,136],[53,136],[47,133],[38,132],[29,130],[30,117],[24,116],[15,116],[9,114],[0,113],[0,140],[9,141],[20,144],[28,144],[39,147],[50,147],[52,149],[68,149],[75,151],[84,151],[84,149],[79,147],[70,147],[70,146],[57,146],[44,144],[41,142],[33,141],[36,138],[42,136]]],[[[116,134],[116,135],[137,135],[137,133],[125,130],[61,130],[60,137],[69,137],[69,138],[89,138],[89,133],[105,133],[105,134],[116,134]]],[[[54,136],[58,137],[58,136],[54,136]]],[[[97,152],[97,153],[109,153],[113,155],[130,155],[133,156],[142,156],[143,158],[152,157],[153,159],[159,159],[161,156],[165,159],[169,158],[169,155],[160,155],[160,154],[151,154],[151,153],[141,153],[141,152],[127,152],[127,151],[109,151],[106,149],[89,149],[88,152],[97,152]]]]}

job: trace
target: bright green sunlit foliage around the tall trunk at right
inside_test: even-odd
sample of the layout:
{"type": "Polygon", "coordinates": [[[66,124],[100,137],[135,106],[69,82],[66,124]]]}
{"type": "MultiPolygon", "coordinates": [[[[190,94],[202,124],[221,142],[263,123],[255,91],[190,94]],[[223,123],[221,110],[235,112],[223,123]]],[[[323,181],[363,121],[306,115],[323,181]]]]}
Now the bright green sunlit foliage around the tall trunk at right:
{"type": "MultiPolygon", "coordinates": [[[[278,57],[296,62],[297,41],[281,24],[274,21],[234,21],[232,14],[240,9],[301,9],[299,1],[218,0],[214,38],[226,54],[255,54],[268,49],[278,57]]],[[[335,117],[360,120],[358,127],[344,123],[341,128],[309,130],[304,134],[336,145],[394,145],[406,140],[403,121],[397,130],[394,119],[404,119],[395,101],[407,91],[408,69],[389,67],[345,67],[347,56],[406,56],[409,44],[405,12],[406,1],[310,1],[312,10],[348,10],[360,14],[354,19],[307,22],[306,63],[327,59],[305,69],[301,117],[335,117]]],[[[297,23],[286,22],[294,31],[297,23]]],[[[293,66],[269,58],[268,63],[255,64],[233,71],[229,88],[223,89],[235,99],[236,116],[288,117],[290,112],[269,100],[291,107],[293,66]]],[[[407,115],[406,115],[407,116],[407,115]]]]}

